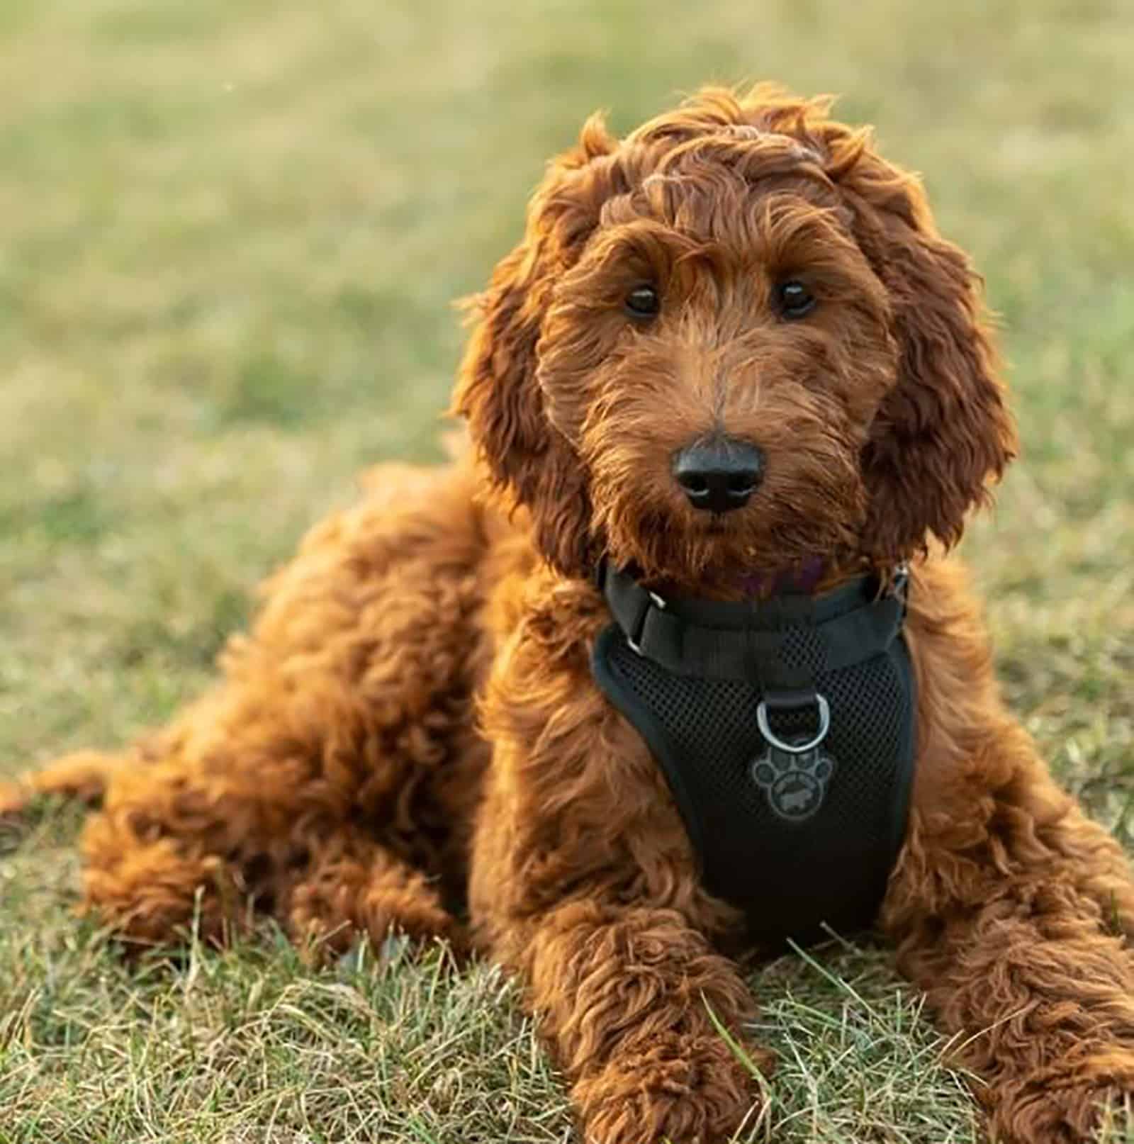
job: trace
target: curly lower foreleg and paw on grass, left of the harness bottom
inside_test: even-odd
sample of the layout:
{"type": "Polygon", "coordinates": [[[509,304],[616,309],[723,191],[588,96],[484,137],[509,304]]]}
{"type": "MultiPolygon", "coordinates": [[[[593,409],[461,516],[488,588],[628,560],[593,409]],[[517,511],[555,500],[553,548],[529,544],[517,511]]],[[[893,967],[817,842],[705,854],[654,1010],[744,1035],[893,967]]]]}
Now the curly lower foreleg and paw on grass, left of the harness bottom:
{"type": "Polygon", "coordinates": [[[679,912],[576,898],[516,961],[587,1144],[708,1144],[754,1113],[753,1078],[709,1017],[737,1030],[751,995],[679,912]]]}

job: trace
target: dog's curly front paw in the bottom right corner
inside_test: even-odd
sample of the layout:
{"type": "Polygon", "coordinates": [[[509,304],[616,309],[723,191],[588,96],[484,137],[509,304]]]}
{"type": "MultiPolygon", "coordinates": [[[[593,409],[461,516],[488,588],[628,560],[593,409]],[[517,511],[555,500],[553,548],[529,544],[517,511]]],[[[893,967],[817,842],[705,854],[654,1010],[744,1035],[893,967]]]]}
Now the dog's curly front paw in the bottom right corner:
{"type": "Polygon", "coordinates": [[[1126,1144],[1134,1138],[1134,1057],[1094,1057],[1073,1075],[1044,1070],[991,1101],[997,1144],[1126,1144]]]}

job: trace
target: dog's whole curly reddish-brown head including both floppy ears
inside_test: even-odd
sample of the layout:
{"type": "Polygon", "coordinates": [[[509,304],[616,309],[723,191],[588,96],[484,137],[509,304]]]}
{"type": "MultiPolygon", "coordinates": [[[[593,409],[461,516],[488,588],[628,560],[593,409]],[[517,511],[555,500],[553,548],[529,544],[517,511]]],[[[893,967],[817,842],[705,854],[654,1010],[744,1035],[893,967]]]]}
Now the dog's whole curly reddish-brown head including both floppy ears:
{"type": "Polygon", "coordinates": [[[549,165],[454,408],[562,571],[893,564],[1010,460],[968,261],[827,106],[705,89],[549,165]]]}

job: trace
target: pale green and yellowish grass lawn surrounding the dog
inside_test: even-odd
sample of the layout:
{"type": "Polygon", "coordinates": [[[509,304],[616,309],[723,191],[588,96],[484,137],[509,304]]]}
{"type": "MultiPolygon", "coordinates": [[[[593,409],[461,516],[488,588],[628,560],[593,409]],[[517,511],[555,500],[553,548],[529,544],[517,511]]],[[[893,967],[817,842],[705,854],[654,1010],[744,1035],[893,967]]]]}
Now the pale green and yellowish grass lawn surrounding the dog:
{"type": "MultiPolygon", "coordinates": [[[[355,470],[437,455],[450,302],[586,113],[775,77],[846,93],[986,273],[1025,455],[966,555],[1013,706],[1131,842],[1132,56],[1124,0],[5,0],[0,772],[165,718],[355,470]]],[[[77,828],[0,836],[2,1144],[570,1138],[491,967],[267,932],[128,972],[70,915],[77,828]]],[[[753,985],[750,1138],[977,1138],[885,952],[753,985]]]]}

